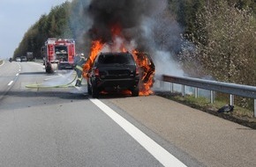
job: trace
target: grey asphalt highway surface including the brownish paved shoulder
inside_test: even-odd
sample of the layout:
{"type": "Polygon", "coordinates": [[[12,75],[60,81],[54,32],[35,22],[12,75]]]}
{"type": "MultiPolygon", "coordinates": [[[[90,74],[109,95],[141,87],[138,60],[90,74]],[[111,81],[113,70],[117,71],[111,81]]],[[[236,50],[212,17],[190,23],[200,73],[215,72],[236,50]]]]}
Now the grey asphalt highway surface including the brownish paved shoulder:
{"type": "Polygon", "coordinates": [[[171,100],[26,88],[67,74],[0,66],[0,166],[256,166],[255,130],[171,100]]]}

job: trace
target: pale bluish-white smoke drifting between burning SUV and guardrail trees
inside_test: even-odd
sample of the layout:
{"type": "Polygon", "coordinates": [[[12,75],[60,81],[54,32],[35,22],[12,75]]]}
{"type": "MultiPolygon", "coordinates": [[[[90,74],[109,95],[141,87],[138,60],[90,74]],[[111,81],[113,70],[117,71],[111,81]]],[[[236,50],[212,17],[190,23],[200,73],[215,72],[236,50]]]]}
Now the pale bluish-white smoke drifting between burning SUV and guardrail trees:
{"type": "Polygon", "coordinates": [[[184,76],[184,71],[173,57],[179,49],[182,30],[176,20],[169,18],[164,12],[165,10],[159,11],[156,16],[143,20],[142,35],[154,60],[156,76],[184,76]]]}

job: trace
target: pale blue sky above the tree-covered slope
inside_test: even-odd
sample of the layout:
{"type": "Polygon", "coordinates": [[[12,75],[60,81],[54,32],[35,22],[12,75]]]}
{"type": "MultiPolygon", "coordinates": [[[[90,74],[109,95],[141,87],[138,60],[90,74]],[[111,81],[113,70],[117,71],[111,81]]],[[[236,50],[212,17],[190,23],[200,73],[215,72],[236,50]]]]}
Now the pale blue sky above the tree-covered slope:
{"type": "MultiPolygon", "coordinates": [[[[67,0],[0,0],[0,59],[12,56],[31,25],[67,0]]],[[[69,0],[71,1],[71,0],[69,0]]]]}

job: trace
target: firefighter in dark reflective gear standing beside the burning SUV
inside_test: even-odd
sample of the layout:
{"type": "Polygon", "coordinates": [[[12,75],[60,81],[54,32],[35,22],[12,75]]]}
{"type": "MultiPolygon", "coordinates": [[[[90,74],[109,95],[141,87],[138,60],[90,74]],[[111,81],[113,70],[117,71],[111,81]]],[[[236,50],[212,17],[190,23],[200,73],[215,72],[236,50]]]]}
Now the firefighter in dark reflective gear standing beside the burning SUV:
{"type": "Polygon", "coordinates": [[[76,86],[81,86],[82,79],[83,79],[83,76],[82,76],[83,66],[85,62],[86,62],[86,58],[84,54],[77,54],[74,58],[74,66],[78,75],[76,86]]]}

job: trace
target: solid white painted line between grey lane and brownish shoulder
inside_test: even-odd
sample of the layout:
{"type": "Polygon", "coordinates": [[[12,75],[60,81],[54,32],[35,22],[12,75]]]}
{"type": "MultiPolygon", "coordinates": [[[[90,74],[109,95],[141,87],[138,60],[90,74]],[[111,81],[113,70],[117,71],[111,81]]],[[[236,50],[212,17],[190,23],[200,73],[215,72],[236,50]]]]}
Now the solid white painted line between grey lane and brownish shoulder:
{"type": "Polygon", "coordinates": [[[134,127],[132,123],[128,120],[125,120],[108,105],[105,105],[99,99],[89,98],[94,105],[97,105],[104,113],[109,115],[109,117],[117,122],[117,124],[124,128],[124,130],[130,134],[139,144],[147,149],[147,151],[154,156],[160,163],[164,166],[175,166],[175,167],[184,167],[184,163],[180,162],[175,156],[171,155],[166,149],[163,149],[158,143],[154,142],[151,138],[141,132],[137,127],[134,127]]]}

